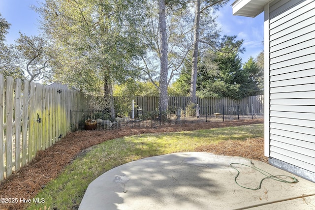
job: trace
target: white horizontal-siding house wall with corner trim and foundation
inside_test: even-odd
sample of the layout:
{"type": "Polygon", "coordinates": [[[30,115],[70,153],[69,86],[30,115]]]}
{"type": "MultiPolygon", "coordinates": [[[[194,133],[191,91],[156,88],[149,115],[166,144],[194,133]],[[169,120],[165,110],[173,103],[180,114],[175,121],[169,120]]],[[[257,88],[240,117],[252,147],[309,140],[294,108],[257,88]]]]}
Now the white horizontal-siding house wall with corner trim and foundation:
{"type": "Polygon", "coordinates": [[[315,181],[315,0],[274,0],[265,6],[266,23],[265,155],[315,181]]]}

